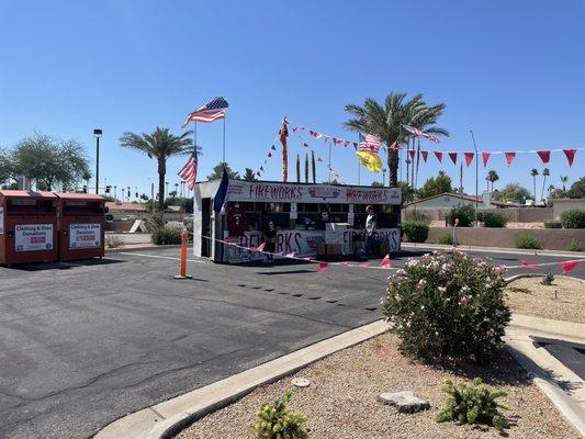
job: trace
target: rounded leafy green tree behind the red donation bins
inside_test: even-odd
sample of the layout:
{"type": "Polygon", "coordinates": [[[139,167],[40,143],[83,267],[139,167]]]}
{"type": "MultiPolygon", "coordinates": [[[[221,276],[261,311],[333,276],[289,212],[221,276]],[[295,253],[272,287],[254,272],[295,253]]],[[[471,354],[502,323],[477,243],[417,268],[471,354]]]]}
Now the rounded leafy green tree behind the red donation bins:
{"type": "Polygon", "coordinates": [[[20,140],[9,159],[12,176],[33,180],[37,190],[75,190],[89,172],[89,160],[81,144],[43,133],[20,140]]]}

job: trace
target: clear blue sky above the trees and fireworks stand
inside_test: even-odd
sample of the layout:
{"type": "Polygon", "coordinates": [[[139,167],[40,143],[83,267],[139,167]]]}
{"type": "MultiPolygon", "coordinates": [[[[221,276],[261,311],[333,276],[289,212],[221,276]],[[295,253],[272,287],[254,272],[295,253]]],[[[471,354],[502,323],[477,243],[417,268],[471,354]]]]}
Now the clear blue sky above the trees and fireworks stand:
{"type": "MultiPolygon", "coordinates": [[[[0,146],[37,130],[76,138],[93,157],[92,130],[101,127],[101,177],[149,193],[155,162],[120,147],[124,131],[180,133],[189,111],[225,95],[227,161],[243,171],[262,164],[284,114],[351,139],[347,103],[406,91],[447,104],[440,125],[451,136],[439,149],[470,150],[469,128],[484,150],[583,147],[584,18],[578,0],[0,0],[0,146]]],[[[204,177],[222,157],[222,123],[199,127],[204,177]]],[[[326,158],[322,142],[314,148],[326,158]]],[[[299,151],[292,142],[293,178],[299,151]]],[[[577,153],[569,169],[562,153],[553,155],[551,182],[583,176],[584,160],[577,153]]],[[[182,161],[169,160],[171,183],[182,161]]],[[[448,161],[421,165],[419,181],[439,169],[458,181],[459,166],[448,161]]],[[[357,182],[350,149],[335,148],[333,167],[357,182]]],[[[497,185],[528,188],[532,167],[542,168],[536,155],[519,155],[509,169],[503,156],[488,165],[497,185]]],[[[280,155],[265,178],[281,178],[280,155]]],[[[326,178],[322,166],[318,179],[326,178]]],[[[361,171],[362,183],[381,178],[361,171]]],[[[473,167],[464,185],[473,192],[473,167]]]]}

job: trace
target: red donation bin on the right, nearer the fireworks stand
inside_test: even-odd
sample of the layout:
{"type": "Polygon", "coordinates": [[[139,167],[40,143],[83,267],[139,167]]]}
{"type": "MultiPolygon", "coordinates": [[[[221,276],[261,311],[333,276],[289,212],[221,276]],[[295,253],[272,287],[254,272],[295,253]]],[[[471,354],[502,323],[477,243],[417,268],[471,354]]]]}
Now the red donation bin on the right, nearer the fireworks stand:
{"type": "Polygon", "coordinates": [[[103,258],[105,200],[88,193],[55,193],[58,198],[59,259],[103,258]]]}

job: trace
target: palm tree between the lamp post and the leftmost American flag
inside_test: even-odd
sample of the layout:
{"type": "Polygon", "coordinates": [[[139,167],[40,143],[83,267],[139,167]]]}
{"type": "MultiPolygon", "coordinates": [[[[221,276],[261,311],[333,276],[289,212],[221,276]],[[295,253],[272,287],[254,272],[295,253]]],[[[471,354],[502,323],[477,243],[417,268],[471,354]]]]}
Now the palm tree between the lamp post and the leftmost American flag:
{"type": "MultiPolygon", "coordinates": [[[[120,137],[120,144],[124,148],[138,149],[148,158],[155,158],[158,165],[158,209],[165,210],[165,176],[167,175],[167,159],[180,154],[192,151],[193,140],[189,138],[190,131],[180,136],[170,133],[169,128],[159,128],[150,133],[135,134],[124,132],[120,137]]],[[[199,150],[199,147],[198,147],[199,150]]]]}

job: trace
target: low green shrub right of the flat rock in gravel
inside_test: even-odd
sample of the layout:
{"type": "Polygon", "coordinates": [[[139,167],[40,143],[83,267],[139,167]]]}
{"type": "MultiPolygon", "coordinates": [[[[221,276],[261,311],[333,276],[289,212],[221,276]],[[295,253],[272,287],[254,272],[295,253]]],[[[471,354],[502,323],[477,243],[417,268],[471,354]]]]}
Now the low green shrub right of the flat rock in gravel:
{"type": "Polygon", "coordinates": [[[458,420],[462,424],[488,424],[498,430],[507,427],[508,423],[499,412],[500,408],[507,407],[497,401],[507,396],[506,392],[491,392],[480,378],[473,380],[470,385],[453,385],[451,380],[446,380],[441,391],[449,396],[443,409],[435,418],[438,423],[458,420]]]}

